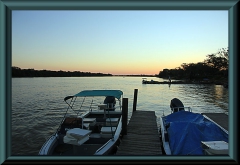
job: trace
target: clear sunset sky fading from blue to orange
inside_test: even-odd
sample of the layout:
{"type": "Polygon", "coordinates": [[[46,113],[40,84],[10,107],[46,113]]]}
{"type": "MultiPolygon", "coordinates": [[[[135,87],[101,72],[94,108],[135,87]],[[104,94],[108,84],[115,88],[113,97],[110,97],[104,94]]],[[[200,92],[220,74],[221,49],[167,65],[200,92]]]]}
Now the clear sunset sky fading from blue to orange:
{"type": "Polygon", "coordinates": [[[12,11],[21,69],[155,75],[227,47],[227,10],[12,11]]]}

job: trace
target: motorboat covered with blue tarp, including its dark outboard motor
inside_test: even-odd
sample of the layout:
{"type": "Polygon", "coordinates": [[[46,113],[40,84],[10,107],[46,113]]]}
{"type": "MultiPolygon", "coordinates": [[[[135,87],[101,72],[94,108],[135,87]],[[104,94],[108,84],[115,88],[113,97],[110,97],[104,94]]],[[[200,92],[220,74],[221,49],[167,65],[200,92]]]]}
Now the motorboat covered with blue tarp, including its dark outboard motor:
{"type": "Polygon", "coordinates": [[[228,131],[206,115],[192,112],[178,99],[170,114],[160,117],[162,148],[166,155],[228,155],[228,131]]]}

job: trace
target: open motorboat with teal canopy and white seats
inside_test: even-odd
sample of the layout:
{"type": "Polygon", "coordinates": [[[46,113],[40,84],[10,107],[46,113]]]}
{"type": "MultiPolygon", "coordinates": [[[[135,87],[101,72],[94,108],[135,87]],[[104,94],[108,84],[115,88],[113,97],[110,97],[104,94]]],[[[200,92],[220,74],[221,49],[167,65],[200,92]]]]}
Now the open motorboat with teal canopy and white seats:
{"type": "Polygon", "coordinates": [[[121,90],[83,90],[66,96],[67,110],[38,155],[111,155],[122,131],[121,90]]]}

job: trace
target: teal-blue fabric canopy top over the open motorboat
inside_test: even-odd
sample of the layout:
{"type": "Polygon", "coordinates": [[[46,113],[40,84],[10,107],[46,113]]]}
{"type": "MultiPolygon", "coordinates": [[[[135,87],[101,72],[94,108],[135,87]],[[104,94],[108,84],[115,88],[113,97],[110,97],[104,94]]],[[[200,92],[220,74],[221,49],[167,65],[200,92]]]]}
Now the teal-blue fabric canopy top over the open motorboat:
{"type": "Polygon", "coordinates": [[[68,100],[73,97],[90,97],[90,96],[114,96],[118,100],[123,95],[121,90],[84,90],[73,96],[67,96],[64,100],[68,100]]]}

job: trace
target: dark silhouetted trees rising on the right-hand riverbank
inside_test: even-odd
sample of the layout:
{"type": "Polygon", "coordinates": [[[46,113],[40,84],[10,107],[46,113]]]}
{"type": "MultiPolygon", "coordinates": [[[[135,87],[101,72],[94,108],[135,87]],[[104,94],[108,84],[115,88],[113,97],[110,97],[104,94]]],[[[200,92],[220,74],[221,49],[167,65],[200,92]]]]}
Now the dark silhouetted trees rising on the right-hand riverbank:
{"type": "Polygon", "coordinates": [[[175,69],[163,69],[157,77],[187,81],[212,81],[228,83],[228,48],[219,49],[216,53],[206,55],[198,63],[182,63],[175,69]]]}

